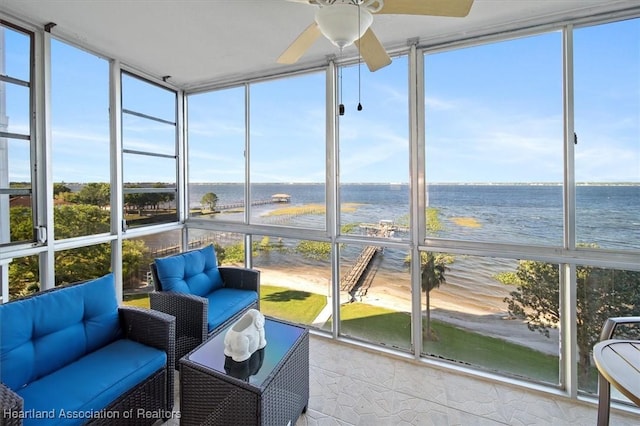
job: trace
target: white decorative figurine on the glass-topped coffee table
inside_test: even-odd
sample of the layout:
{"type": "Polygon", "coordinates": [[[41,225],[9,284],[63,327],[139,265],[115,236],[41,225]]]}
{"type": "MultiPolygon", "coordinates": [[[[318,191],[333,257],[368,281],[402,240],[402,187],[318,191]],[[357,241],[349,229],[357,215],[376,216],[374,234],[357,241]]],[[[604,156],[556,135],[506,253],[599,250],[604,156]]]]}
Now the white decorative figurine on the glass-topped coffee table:
{"type": "Polygon", "coordinates": [[[224,336],[224,354],[234,361],[245,361],[267,345],[264,337],[264,315],[249,309],[224,336]]]}

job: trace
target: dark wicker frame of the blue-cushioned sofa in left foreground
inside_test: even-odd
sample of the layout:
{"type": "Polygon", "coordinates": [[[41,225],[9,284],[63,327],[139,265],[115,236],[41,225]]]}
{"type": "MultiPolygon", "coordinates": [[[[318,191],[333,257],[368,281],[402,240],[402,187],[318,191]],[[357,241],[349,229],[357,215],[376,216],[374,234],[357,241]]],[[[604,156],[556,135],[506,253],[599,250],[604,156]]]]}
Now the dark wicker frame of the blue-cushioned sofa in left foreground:
{"type": "MultiPolygon", "coordinates": [[[[74,283],[43,290],[26,298],[38,297],[47,292],[58,291],[67,288],[74,283]]],[[[8,302],[11,303],[11,302],[8,302]]],[[[174,376],[175,376],[175,318],[163,312],[153,311],[138,307],[119,307],[118,316],[123,337],[144,345],[148,345],[164,351],[167,354],[166,366],[151,375],[145,381],[139,383],[128,392],[113,401],[105,412],[120,413],[117,418],[94,418],[86,424],[90,425],[143,425],[153,424],[158,418],[140,418],[135,415],[142,409],[149,413],[162,414],[166,420],[174,405],[174,376]],[[132,410],[132,411],[131,411],[132,410]],[[133,416],[126,418],[123,413],[132,412],[133,416]]],[[[24,401],[9,387],[0,382],[0,424],[6,426],[20,426],[23,420],[19,413],[24,410],[24,401]],[[14,414],[12,414],[14,413],[14,414]]]]}

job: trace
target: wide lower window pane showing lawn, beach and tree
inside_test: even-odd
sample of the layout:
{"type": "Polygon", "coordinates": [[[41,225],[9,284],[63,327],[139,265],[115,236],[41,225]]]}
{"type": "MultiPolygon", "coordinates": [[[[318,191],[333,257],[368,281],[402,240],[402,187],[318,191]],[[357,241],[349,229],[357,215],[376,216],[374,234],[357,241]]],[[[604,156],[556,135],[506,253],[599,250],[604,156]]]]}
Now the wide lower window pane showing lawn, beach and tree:
{"type": "Polygon", "coordinates": [[[557,265],[433,252],[421,257],[426,355],[559,383],[557,265]]]}

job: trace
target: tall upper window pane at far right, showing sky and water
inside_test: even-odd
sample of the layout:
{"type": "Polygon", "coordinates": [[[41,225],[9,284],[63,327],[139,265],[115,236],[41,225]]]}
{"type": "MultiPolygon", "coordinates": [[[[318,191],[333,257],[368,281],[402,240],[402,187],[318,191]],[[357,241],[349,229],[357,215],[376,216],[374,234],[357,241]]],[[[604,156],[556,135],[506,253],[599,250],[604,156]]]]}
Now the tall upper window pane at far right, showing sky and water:
{"type": "Polygon", "coordinates": [[[577,243],[637,250],[640,19],[578,29],[574,43],[577,243]]]}

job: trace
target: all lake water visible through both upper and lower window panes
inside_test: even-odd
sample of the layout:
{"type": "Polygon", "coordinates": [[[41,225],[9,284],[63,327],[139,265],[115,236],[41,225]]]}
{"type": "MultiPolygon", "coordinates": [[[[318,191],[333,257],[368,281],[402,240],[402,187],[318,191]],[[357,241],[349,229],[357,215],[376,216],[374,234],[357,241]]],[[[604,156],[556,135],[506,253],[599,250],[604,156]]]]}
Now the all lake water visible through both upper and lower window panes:
{"type": "MultiPolygon", "coordinates": [[[[201,184],[190,187],[190,205],[199,207],[207,192],[214,192],[220,204],[243,198],[241,184],[201,184]]],[[[270,216],[281,207],[324,204],[325,188],[320,184],[256,184],[252,200],[267,200],[273,194],[291,196],[289,205],[267,204],[252,208],[252,222],[324,229],[325,215],[270,216]],[[277,222],[272,222],[277,220],[277,222]]],[[[428,207],[437,209],[441,229],[430,232],[435,238],[489,243],[563,246],[563,189],[560,185],[430,185],[428,207]]],[[[340,222],[378,223],[392,220],[408,224],[410,188],[406,184],[348,184],[340,187],[343,204],[340,222]],[[345,208],[350,207],[350,208],[345,208]]],[[[242,213],[220,213],[212,220],[243,219],[242,213]]],[[[199,231],[198,231],[199,232],[199,231]]],[[[353,232],[362,232],[355,228],[353,232]]],[[[206,235],[208,231],[202,231],[206,235]]],[[[576,188],[576,235],[578,244],[596,244],[603,249],[640,249],[640,185],[593,185],[576,188]]],[[[402,232],[396,237],[402,238],[402,232]]],[[[259,237],[258,237],[259,238],[259,237]]],[[[273,241],[273,239],[272,239],[273,241]]],[[[284,241],[293,248],[297,240],[284,241]]],[[[340,274],[362,251],[356,244],[341,245],[340,274]]],[[[406,249],[386,247],[379,257],[379,269],[371,287],[388,289],[410,299],[411,283],[406,249]]],[[[277,268],[292,275],[296,271],[316,273],[330,280],[327,262],[318,262],[291,251],[272,250],[260,255],[256,267],[277,268]]],[[[506,314],[504,297],[512,288],[495,279],[497,273],[515,271],[518,259],[455,255],[446,272],[446,283],[433,292],[432,306],[464,304],[468,309],[506,314]]],[[[384,290],[383,290],[384,291],[384,290]]],[[[455,309],[455,308],[451,308],[455,309]]],[[[544,340],[544,339],[543,339],[544,340]]]]}

